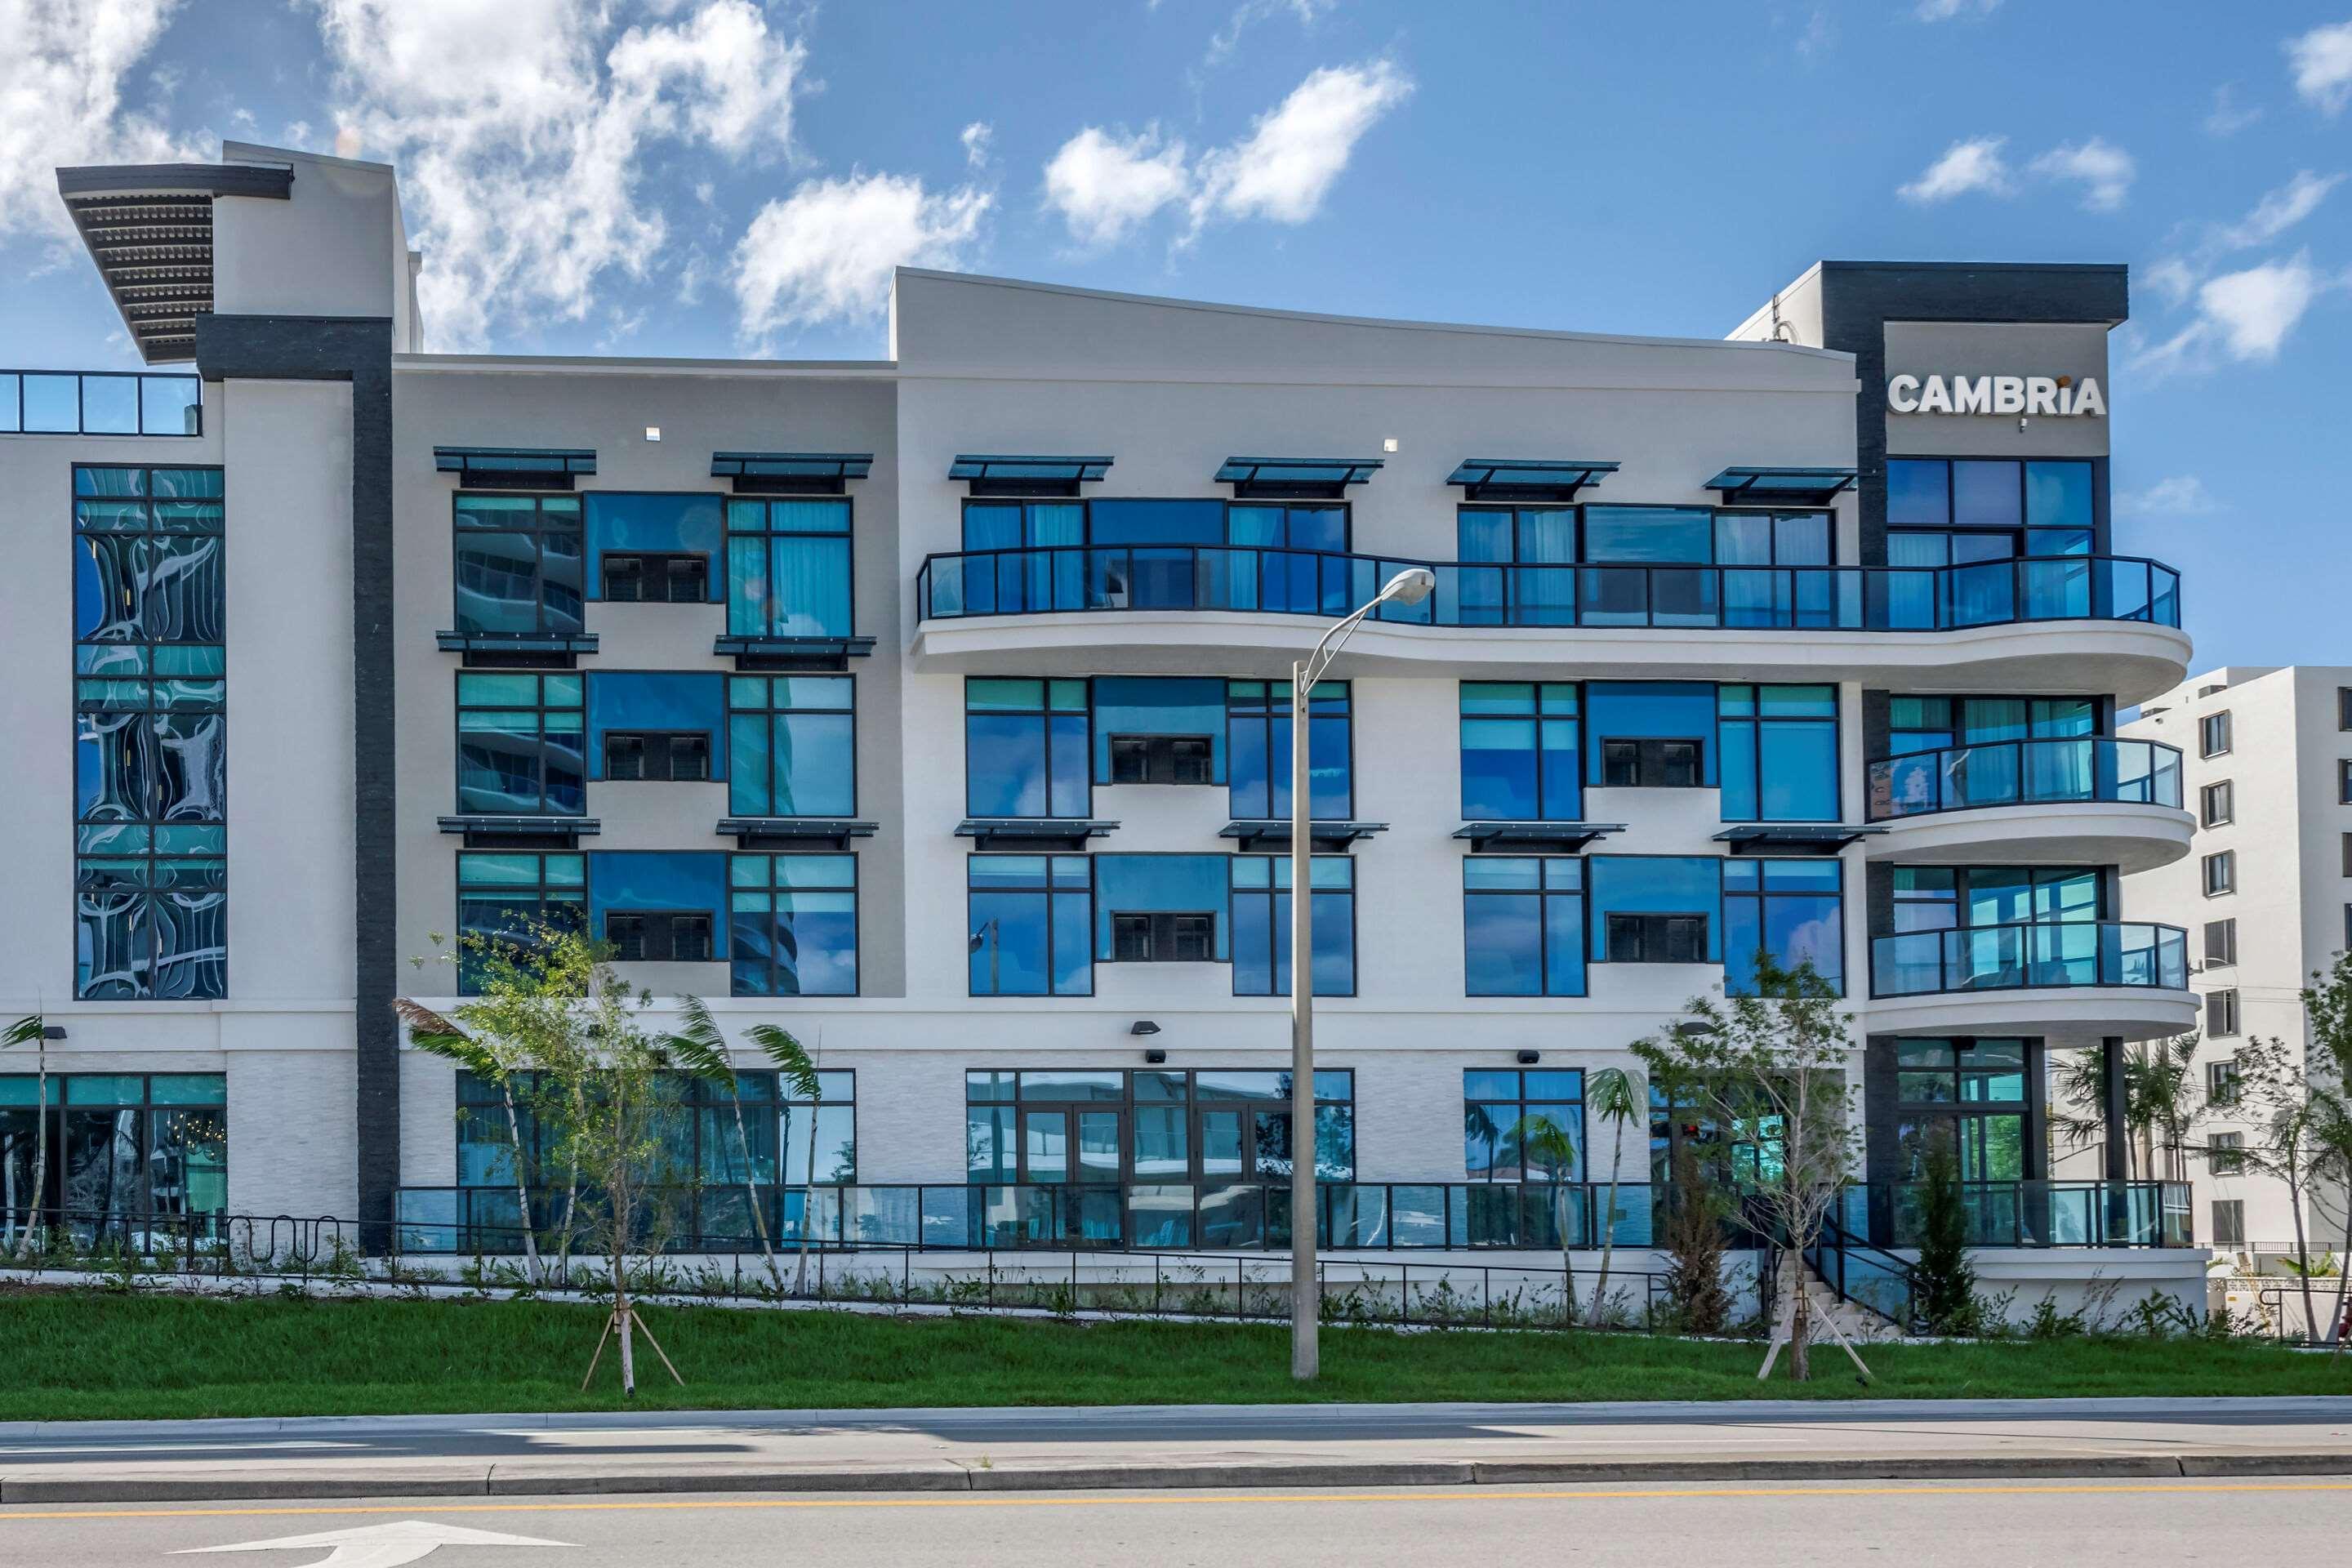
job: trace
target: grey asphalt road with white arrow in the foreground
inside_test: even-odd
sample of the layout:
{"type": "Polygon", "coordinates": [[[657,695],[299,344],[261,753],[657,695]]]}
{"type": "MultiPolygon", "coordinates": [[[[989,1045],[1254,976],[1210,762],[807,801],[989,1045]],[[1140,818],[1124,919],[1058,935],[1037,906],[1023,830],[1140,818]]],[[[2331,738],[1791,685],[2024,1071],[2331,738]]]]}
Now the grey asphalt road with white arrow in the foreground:
{"type": "Polygon", "coordinates": [[[2204,1561],[2260,1542],[2265,1561],[2340,1561],[2352,1479],[2013,1481],[1872,1486],[1562,1486],[1472,1490],[1054,1493],[1014,1497],[600,1497],[202,1509],[0,1509],[0,1561],[42,1568],[1409,1568],[1418,1563],[1740,1563],[2037,1568],[2204,1561]],[[235,1549],[407,1526],[348,1544],[235,1549]],[[442,1544],[435,1530],[546,1544],[442,1544]],[[230,1552],[214,1556],[230,1547],[230,1552]],[[562,1547],[555,1552],[550,1547],[562,1547]]]}

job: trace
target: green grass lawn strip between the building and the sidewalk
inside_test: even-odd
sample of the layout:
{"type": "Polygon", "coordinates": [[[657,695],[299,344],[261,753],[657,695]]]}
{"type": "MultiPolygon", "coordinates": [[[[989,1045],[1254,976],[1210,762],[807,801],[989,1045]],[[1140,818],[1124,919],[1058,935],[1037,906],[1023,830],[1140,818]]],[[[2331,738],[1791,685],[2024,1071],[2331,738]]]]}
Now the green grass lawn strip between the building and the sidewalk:
{"type": "MultiPolygon", "coordinates": [[[[640,1349],[640,1406],[844,1408],[1348,1399],[1856,1399],[2352,1394],[2352,1359],[2263,1342],[2049,1340],[1835,1347],[1809,1385],[1757,1382],[1762,1347],[1632,1333],[1324,1333],[1322,1382],[1289,1380],[1289,1333],[1242,1324],[887,1319],[656,1307],[684,1373],[640,1349]]],[[[612,1354],[579,1392],[600,1309],[513,1300],[219,1300],[0,1293],[0,1420],[609,1410],[612,1354]]],[[[1785,1361],[1785,1359],[1783,1359],[1785,1361]]]]}

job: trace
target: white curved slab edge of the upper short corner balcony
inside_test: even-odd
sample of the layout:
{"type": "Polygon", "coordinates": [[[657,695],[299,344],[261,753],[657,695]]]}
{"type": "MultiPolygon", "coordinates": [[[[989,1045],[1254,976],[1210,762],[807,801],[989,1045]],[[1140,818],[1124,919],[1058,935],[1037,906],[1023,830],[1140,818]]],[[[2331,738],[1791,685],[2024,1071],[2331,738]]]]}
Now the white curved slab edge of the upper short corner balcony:
{"type": "Polygon", "coordinates": [[[1863,839],[1870,860],[2114,865],[2129,877],[2187,856],[2197,818],[2178,806],[2082,799],[1922,811],[1877,825],[1886,832],[1863,839]]]}

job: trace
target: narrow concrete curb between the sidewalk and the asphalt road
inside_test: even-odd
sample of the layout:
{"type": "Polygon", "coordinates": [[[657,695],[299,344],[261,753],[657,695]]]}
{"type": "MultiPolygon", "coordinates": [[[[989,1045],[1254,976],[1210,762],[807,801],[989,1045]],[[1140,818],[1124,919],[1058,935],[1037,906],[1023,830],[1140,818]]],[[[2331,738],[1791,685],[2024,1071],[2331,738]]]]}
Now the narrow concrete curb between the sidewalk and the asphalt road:
{"type": "Polygon", "coordinates": [[[1028,1493],[1329,1486],[1592,1486],[1708,1481],[2063,1481],[2352,1476],[2347,1453],[2169,1455],[1898,1455],[1724,1460],[1364,1460],[1235,1465],[1011,1465],[941,1460],[920,1467],[795,1469],[779,1465],[369,1467],[238,1476],[0,1476],[0,1505],[26,1502],[285,1502],[327,1497],[579,1497],[616,1493],[1028,1493]]]}

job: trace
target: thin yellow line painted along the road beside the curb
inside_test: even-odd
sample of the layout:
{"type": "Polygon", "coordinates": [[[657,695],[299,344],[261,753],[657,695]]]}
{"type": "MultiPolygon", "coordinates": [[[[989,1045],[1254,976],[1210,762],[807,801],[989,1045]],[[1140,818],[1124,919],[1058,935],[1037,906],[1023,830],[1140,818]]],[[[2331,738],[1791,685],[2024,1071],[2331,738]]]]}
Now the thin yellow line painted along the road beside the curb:
{"type": "Polygon", "coordinates": [[[1602,1502],[1623,1497],[2034,1497],[2082,1493],[2352,1493],[2352,1481],[2114,1481],[2067,1486],[1691,1486],[1468,1493],[1122,1493],[1117,1497],[675,1497],[647,1502],[358,1502],[341,1507],[245,1509],[54,1509],[0,1507],[0,1523],[21,1519],[278,1519],[296,1514],[644,1514],[680,1509],[1089,1509],[1178,1507],[1202,1502],[1602,1502]]]}

